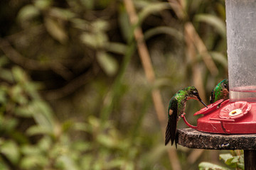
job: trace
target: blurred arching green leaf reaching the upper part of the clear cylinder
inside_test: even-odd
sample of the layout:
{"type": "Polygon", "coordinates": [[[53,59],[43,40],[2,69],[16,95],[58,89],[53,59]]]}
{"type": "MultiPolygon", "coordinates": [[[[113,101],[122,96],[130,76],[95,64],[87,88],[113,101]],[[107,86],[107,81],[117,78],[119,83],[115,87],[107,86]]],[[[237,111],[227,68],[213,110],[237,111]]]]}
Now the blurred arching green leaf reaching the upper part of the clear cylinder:
{"type": "Polygon", "coordinates": [[[195,16],[195,20],[198,22],[208,23],[210,26],[216,28],[216,30],[218,30],[218,32],[220,33],[220,35],[223,36],[223,38],[226,37],[225,22],[217,16],[213,16],[210,14],[198,14],[195,16]]]}

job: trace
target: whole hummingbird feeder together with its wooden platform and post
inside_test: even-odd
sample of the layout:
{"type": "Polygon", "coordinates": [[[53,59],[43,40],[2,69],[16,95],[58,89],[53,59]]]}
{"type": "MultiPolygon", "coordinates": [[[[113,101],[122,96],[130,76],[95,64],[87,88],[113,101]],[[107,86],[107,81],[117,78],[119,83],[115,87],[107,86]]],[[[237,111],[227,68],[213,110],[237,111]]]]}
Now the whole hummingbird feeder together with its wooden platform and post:
{"type": "Polygon", "coordinates": [[[189,148],[243,149],[245,170],[256,170],[256,0],[225,6],[230,100],[196,112],[203,115],[196,126],[182,116],[190,128],[177,130],[177,140],[189,148]]]}

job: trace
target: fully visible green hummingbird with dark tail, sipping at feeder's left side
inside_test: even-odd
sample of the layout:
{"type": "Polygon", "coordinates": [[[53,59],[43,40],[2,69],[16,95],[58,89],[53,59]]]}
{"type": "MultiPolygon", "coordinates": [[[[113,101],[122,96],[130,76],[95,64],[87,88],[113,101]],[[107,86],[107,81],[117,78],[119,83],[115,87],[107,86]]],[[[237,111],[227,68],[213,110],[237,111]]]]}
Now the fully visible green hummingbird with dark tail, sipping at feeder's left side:
{"type": "MultiPolygon", "coordinates": [[[[178,120],[181,119],[181,115],[184,115],[184,111],[186,108],[186,101],[189,99],[195,99],[197,101],[201,100],[198,90],[194,86],[188,86],[185,89],[178,91],[174,96],[171,98],[169,102],[168,108],[168,124],[166,126],[166,138],[165,138],[165,145],[169,143],[171,140],[171,145],[174,144],[174,140],[176,141],[176,130],[177,130],[177,123],[178,120]]],[[[206,106],[205,103],[203,103],[206,106]]],[[[206,106],[207,107],[207,106],[206,106]]],[[[177,147],[177,144],[175,142],[177,147]]]]}

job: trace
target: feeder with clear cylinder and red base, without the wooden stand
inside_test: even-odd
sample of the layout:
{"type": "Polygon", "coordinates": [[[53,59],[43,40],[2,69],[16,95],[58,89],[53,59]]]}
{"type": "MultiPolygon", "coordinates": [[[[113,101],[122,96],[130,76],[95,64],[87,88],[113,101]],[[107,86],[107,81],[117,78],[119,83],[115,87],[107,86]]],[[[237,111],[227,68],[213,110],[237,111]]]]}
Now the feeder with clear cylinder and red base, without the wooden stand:
{"type": "Polygon", "coordinates": [[[195,113],[203,115],[197,126],[184,116],[183,120],[201,132],[252,134],[256,133],[256,1],[228,0],[225,4],[230,100],[195,113]]]}

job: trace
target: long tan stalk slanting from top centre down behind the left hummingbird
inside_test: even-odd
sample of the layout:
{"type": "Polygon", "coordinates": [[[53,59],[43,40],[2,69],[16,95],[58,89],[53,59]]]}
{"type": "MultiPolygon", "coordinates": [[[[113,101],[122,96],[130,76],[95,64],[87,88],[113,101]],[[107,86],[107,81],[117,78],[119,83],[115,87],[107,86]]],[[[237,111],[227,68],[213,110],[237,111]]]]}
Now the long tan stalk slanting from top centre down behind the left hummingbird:
{"type": "MultiPolygon", "coordinates": [[[[136,26],[138,22],[138,16],[134,8],[134,4],[132,0],[124,0],[124,5],[127,9],[127,13],[129,15],[129,20],[132,23],[132,25],[136,26]]],[[[142,66],[144,68],[144,72],[146,74],[146,79],[149,81],[151,85],[154,84],[155,81],[155,74],[154,74],[154,69],[151,64],[151,59],[149,56],[149,50],[146,47],[146,43],[144,42],[144,35],[142,33],[142,28],[137,26],[134,29],[134,38],[137,41],[137,47],[139,51],[139,57],[142,61],[142,66]]],[[[151,96],[153,99],[154,103],[154,108],[156,109],[156,115],[159,120],[159,123],[161,125],[161,132],[164,135],[165,134],[165,120],[166,120],[166,115],[164,111],[164,104],[161,99],[161,94],[159,89],[153,89],[151,91],[151,96]]],[[[168,150],[168,155],[169,159],[171,162],[171,166],[173,169],[181,169],[181,165],[178,161],[178,156],[176,154],[175,149],[169,149],[168,150]]]]}

